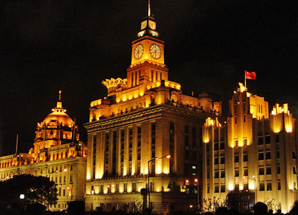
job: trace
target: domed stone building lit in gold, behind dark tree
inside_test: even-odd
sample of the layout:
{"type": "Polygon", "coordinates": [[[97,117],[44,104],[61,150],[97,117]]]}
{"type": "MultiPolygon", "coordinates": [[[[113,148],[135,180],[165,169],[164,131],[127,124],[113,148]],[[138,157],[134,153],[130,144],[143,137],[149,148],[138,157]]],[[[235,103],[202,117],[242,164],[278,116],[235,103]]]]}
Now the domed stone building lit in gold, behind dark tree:
{"type": "Polygon", "coordinates": [[[58,203],[51,210],[67,209],[67,203],[85,198],[87,146],[79,141],[78,126],[59,101],[42,123],[37,123],[29,153],[0,157],[0,180],[13,175],[50,177],[58,188],[58,203]],[[66,171],[64,171],[66,170],[66,171]]]}

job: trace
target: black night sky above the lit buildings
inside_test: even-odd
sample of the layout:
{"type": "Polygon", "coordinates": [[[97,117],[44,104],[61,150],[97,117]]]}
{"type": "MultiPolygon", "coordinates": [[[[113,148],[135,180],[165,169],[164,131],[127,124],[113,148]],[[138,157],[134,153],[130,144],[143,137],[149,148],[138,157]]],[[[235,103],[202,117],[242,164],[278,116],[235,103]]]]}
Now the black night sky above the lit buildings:
{"type": "MultiPolygon", "coordinates": [[[[169,79],[184,94],[208,90],[227,101],[244,80],[249,92],[290,103],[298,115],[297,1],[151,0],[165,41],[169,79]]],[[[33,146],[35,128],[58,99],[82,124],[89,103],[125,78],[131,42],[147,15],[146,0],[14,1],[0,3],[0,123],[4,154],[33,146]]]]}

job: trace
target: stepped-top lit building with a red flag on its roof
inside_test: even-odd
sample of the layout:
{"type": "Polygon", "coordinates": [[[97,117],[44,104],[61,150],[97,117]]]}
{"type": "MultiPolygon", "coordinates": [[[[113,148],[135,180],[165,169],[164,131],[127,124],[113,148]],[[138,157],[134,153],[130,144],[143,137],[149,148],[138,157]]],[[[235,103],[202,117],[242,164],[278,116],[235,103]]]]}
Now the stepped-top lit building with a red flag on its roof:
{"type": "Polygon", "coordinates": [[[272,209],[288,212],[298,199],[295,123],[288,104],[276,104],[270,113],[263,97],[239,83],[227,122],[204,126],[204,198],[251,190],[257,201],[273,200],[272,209]]]}

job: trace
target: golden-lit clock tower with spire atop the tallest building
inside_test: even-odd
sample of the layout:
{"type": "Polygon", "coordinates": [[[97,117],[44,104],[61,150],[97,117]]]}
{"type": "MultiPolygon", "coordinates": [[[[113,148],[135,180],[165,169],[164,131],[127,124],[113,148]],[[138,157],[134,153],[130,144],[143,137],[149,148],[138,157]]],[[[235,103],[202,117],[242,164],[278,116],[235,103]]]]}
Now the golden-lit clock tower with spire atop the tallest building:
{"type": "Polygon", "coordinates": [[[159,40],[155,18],[150,14],[141,21],[137,40],[132,42],[132,61],[128,71],[128,87],[168,80],[164,65],[164,41],[159,40]]]}

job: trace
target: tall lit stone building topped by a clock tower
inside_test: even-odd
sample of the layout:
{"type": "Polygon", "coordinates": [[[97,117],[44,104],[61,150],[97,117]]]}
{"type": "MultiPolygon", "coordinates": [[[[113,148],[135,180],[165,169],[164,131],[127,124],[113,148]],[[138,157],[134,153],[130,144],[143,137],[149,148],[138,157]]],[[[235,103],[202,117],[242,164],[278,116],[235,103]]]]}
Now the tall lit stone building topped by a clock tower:
{"type": "Polygon", "coordinates": [[[127,78],[105,79],[107,97],[89,108],[87,210],[125,209],[142,200],[148,172],[153,211],[166,214],[197,202],[195,193],[185,192],[196,187],[185,180],[202,182],[202,126],[207,117],[220,116],[221,102],[209,94],[186,96],[179,83],[168,80],[164,41],[150,10],[137,37],[127,78]],[[150,162],[148,169],[148,161],[166,155],[170,159],[150,162]]]}

